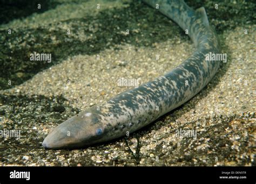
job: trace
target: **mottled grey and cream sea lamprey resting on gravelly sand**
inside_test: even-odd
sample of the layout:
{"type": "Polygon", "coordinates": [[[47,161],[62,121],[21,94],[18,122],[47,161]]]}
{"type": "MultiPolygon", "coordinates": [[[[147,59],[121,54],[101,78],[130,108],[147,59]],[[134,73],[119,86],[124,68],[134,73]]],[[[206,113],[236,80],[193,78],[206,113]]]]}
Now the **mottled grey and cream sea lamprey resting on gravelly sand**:
{"type": "Polygon", "coordinates": [[[158,4],[161,13],[188,30],[196,51],[164,76],[60,124],[43,141],[45,148],[83,147],[132,133],[190,100],[215,75],[220,61],[206,61],[205,54],[219,53],[219,41],[208,25],[204,8],[194,11],[183,1],[144,2],[153,8],[158,4]]]}

